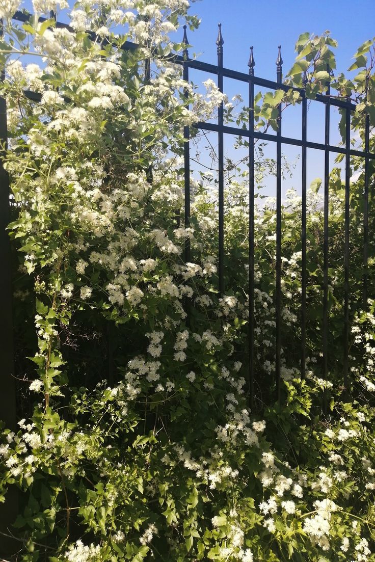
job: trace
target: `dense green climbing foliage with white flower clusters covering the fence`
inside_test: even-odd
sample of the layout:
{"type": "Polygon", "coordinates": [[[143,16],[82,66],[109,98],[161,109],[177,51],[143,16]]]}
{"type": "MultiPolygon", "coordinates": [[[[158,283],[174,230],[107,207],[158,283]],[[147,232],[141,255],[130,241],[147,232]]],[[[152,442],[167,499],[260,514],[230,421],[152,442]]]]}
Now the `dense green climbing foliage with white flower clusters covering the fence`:
{"type": "MultiPolygon", "coordinates": [[[[336,169],[329,381],[321,377],[323,217],[314,184],[308,376],[299,378],[301,202],[289,193],[283,399],[274,404],[275,212],[259,195],[257,387],[250,411],[246,173],[241,183],[228,172],[222,296],[214,182],[191,180],[191,226],[178,224],[183,126],[210,119],[223,96],[210,80],[202,96],[166,59],[153,58],[151,80],[144,75],[151,48],[164,57],[182,49],[167,35],[181,18],[197,26],[186,14],[187,0],[80,2],[70,15],[73,31],[57,29],[53,19],[17,27],[10,20],[16,8],[0,2],[16,366],[23,379],[20,429],[5,428],[0,446],[4,501],[8,489],[21,491],[14,559],[375,560],[375,305],[372,292],[361,311],[363,162],[352,162],[350,388],[342,388],[344,219],[336,169]],[[124,51],[126,39],[144,47],[124,51]],[[19,59],[30,53],[43,62],[22,66],[19,59]],[[30,101],[25,89],[40,92],[42,101],[30,101]],[[187,238],[192,257],[185,264],[187,238]]],[[[37,13],[51,8],[34,1],[37,13]]],[[[308,96],[324,91],[335,46],[328,34],[301,35],[290,84],[300,85],[306,71],[308,96]]],[[[366,107],[375,122],[372,42],[359,49],[356,64],[353,83],[340,75],[331,87],[340,96],[353,90],[353,130],[363,143],[366,107]]],[[[260,129],[275,128],[280,102],[300,98],[292,90],[257,96],[260,129]]],[[[224,103],[226,119],[246,127],[247,109],[224,103]]],[[[373,137],[371,146],[375,152],[373,137]]],[[[263,159],[259,184],[268,173],[272,162],[263,159]]]]}

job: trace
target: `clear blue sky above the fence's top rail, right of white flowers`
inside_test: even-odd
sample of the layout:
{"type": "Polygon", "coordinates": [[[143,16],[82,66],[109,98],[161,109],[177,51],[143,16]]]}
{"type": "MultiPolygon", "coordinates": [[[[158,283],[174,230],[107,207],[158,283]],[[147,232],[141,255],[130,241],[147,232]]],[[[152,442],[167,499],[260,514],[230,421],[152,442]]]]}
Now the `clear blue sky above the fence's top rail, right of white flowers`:
{"type": "Polygon", "coordinates": [[[197,0],[190,13],[201,19],[189,41],[201,60],[215,62],[217,24],[222,23],[224,66],[247,72],[249,47],[254,45],[255,71],[275,78],[277,46],[282,45],[284,69],[292,66],[297,37],[327,29],[338,40],[338,70],[351,64],[357,47],[375,35],[374,0],[197,0]]]}

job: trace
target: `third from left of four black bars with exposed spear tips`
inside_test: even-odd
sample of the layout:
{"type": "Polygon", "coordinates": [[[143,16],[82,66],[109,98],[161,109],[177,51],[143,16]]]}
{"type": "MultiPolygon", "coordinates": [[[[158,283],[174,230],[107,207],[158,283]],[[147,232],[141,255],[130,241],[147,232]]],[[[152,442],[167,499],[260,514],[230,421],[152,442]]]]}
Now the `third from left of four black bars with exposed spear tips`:
{"type": "Polygon", "coordinates": [[[254,407],[254,56],[249,59],[249,405],[254,407]]]}

